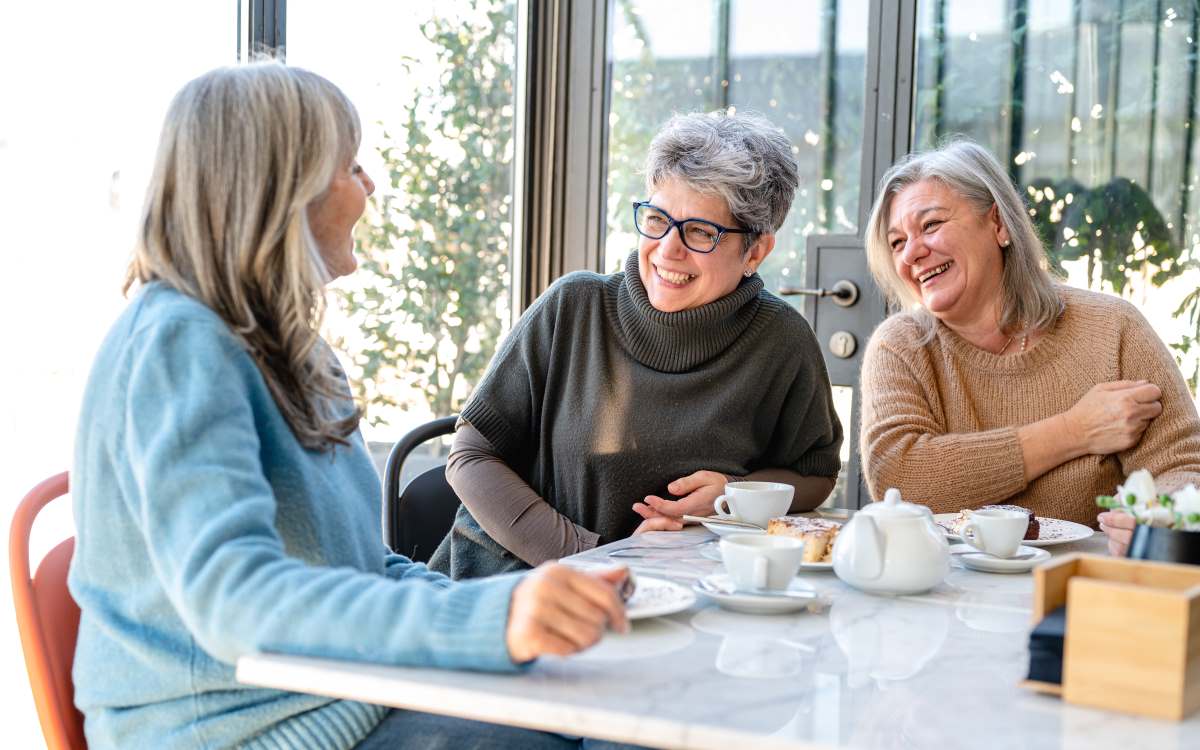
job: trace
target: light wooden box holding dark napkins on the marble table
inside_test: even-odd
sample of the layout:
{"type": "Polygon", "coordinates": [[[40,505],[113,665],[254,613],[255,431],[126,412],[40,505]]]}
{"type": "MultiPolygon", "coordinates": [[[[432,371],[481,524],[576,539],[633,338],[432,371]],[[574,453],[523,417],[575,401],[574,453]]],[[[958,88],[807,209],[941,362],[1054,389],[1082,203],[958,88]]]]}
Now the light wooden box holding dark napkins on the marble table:
{"type": "Polygon", "coordinates": [[[1033,572],[1033,622],[1064,604],[1066,701],[1159,719],[1200,708],[1200,566],[1064,556],[1033,572]]]}

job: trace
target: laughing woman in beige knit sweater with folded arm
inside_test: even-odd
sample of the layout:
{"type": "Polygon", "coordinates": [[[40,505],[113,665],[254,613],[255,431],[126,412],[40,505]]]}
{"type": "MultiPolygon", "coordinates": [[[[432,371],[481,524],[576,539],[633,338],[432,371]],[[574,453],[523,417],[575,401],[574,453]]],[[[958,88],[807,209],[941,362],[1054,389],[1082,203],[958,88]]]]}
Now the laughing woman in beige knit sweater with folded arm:
{"type": "MultiPolygon", "coordinates": [[[[1096,496],[1139,468],[1200,480],[1200,419],[1170,353],[1124,300],[1056,281],[1027,206],[982,146],[954,140],[892,167],[868,262],[901,312],[863,362],[871,494],[934,512],[1019,504],[1096,524],[1096,496]]],[[[1128,516],[1102,514],[1110,548],[1128,516]]]]}

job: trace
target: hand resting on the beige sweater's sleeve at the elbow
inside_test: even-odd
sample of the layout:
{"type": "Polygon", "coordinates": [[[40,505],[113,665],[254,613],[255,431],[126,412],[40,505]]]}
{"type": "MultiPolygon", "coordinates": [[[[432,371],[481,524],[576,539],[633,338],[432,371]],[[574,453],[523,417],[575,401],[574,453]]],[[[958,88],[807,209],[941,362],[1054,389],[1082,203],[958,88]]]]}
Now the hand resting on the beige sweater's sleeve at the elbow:
{"type": "Polygon", "coordinates": [[[1163,391],[1146,380],[1098,383],[1063,416],[1085,452],[1106,456],[1138,444],[1163,413],[1163,391]]]}

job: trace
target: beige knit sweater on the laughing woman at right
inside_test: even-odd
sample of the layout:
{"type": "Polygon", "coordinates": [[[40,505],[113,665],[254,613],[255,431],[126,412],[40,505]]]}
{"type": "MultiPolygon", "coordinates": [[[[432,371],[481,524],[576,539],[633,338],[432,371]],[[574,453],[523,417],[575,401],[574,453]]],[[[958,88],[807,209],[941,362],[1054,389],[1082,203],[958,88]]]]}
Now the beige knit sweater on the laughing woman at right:
{"type": "Polygon", "coordinates": [[[996,356],[938,324],[919,344],[911,313],[883,322],[863,362],[860,449],[875,499],[899,487],[934,512],[1015,503],[1096,526],[1097,494],[1150,469],[1165,491],[1200,485],[1200,418],[1178,367],[1124,300],[1062,287],[1063,314],[1027,352],[996,356]],[[1016,428],[1064,412],[1097,383],[1146,379],[1163,413],[1120,454],[1084,456],[1025,481],[1016,428]]]}

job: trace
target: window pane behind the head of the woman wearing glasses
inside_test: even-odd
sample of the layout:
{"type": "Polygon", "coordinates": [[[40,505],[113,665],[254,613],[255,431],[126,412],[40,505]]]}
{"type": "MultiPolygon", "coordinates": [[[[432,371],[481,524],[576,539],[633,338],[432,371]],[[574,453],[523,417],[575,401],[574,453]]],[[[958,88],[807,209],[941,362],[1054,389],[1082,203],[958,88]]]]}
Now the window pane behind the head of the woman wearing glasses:
{"type": "Polygon", "coordinates": [[[866,0],[612,0],[606,270],[637,246],[646,149],[673,114],[752,109],[791,138],[800,188],[768,289],[804,278],[812,233],[853,233],[866,54],[866,0]]]}

